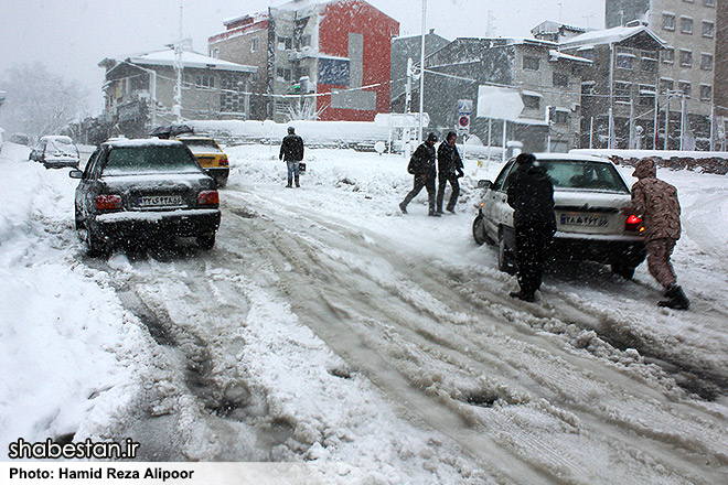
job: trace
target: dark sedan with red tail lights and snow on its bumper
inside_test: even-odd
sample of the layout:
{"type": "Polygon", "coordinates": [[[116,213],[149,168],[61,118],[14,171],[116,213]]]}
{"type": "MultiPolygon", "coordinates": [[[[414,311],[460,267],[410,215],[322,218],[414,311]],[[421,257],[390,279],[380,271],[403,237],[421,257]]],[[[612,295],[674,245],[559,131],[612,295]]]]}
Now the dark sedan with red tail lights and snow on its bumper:
{"type": "Polygon", "coordinates": [[[75,196],[76,229],[89,254],[116,242],[160,237],[195,237],[204,249],[215,244],[220,197],[192,152],[173,140],[117,140],[101,144],[85,170],[75,196]]]}

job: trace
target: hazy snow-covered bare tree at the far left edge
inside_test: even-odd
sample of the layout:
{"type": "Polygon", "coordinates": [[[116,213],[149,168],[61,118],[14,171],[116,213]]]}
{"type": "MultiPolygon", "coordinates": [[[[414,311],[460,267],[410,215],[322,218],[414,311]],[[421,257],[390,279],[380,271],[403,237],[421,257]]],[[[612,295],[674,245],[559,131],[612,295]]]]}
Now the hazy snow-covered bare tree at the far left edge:
{"type": "Polygon", "coordinates": [[[0,86],[7,93],[0,125],[8,132],[22,131],[33,139],[60,132],[88,107],[87,88],[49,72],[40,63],[7,69],[0,86]]]}

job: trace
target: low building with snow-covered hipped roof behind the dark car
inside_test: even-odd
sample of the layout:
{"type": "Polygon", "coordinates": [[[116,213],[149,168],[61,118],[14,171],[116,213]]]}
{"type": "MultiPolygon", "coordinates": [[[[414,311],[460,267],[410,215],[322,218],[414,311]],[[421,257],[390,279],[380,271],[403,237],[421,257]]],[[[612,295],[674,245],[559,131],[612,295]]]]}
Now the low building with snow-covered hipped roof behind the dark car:
{"type": "MultiPolygon", "coordinates": [[[[124,58],[107,57],[105,114],[107,122],[130,137],[143,137],[149,128],[176,120],[178,75],[174,50],[124,58]]],[[[181,112],[186,119],[247,118],[245,94],[257,67],[212,58],[188,48],[179,57],[181,112]]]]}

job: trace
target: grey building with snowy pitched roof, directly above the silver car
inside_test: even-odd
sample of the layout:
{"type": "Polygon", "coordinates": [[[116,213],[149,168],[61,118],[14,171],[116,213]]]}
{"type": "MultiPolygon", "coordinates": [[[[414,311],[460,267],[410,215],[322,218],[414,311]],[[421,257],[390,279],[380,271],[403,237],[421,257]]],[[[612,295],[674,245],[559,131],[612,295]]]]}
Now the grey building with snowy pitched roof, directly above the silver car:
{"type": "Polygon", "coordinates": [[[653,148],[664,43],[645,25],[590,31],[559,44],[592,61],[581,83],[582,148],[653,148]],[[610,129],[611,126],[611,129],[610,129]]]}

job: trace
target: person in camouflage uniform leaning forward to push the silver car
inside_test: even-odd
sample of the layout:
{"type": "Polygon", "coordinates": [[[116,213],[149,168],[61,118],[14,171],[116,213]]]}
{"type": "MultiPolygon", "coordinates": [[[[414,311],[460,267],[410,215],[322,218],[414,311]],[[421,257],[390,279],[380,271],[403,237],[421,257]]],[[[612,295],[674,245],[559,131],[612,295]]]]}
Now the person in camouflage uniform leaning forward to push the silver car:
{"type": "Polygon", "coordinates": [[[642,216],[644,244],[647,249],[650,274],[664,288],[667,298],[660,306],[687,310],[690,302],[677,284],[677,277],[670,257],[681,236],[679,201],[677,188],[657,179],[657,169],[651,158],[644,158],[634,165],[638,181],[632,185],[632,205],[623,213],[642,216]]]}

